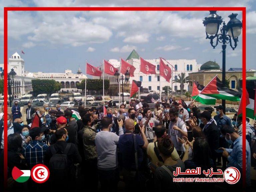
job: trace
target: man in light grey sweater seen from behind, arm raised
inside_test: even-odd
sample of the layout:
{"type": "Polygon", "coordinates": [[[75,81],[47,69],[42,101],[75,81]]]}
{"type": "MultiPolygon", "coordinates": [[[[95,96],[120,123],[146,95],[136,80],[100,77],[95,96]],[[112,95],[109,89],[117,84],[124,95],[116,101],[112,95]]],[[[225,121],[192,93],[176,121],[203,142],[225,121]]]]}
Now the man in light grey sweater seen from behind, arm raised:
{"type": "Polygon", "coordinates": [[[98,153],[98,172],[101,191],[117,191],[119,181],[118,162],[116,148],[119,136],[123,135],[123,121],[118,121],[119,136],[111,133],[112,119],[103,117],[102,131],[95,137],[95,145],[98,153]]]}

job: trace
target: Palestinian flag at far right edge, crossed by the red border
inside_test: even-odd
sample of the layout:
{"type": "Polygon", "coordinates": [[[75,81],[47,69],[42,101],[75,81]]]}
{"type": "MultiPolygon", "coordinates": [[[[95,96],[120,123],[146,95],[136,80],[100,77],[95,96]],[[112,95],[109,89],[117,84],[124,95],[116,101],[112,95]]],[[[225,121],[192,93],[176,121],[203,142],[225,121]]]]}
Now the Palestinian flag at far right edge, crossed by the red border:
{"type": "MultiPolygon", "coordinates": [[[[256,119],[256,90],[253,88],[248,88],[246,89],[246,117],[251,118],[251,119],[256,119]]],[[[243,96],[242,96],[243,97],[243,96]]],[[[242,99],[241,99],[242,100],[242,99]]],[[[242,115],[242,106],[241,101],[239,104],[238,112],[237,115],[242,115]]]]}

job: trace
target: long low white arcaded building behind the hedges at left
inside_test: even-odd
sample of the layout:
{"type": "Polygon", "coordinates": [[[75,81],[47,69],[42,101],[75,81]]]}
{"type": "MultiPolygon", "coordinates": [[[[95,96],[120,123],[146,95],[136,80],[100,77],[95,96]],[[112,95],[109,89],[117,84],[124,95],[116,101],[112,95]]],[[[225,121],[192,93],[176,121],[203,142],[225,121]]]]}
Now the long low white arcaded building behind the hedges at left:
{"type": "Polygon", "coordinates": [[[36,72],[30,73],[26,72],[26,75],[32,74],[34,78],[38,79],[53,79],[59,83],[61,83],[61,91],[72,91],[76,89],[76,84],[80,83],[83,79],[86,79],[86,75],[84,75],[80,67],[76,74],[72,73],[71,70],[66,69],[65,73],[43,73],[43,72],[36,72]]]}

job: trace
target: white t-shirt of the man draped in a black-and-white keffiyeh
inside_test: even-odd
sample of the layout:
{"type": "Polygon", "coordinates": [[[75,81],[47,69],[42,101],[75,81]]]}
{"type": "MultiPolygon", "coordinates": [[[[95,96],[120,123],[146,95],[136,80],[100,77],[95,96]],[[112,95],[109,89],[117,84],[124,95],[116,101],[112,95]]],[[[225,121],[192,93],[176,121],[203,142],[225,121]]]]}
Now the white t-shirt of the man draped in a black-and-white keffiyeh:
{"type": "Polygon", "coordinates": [[[182,134],[180,131],[173,129],[173,126],[177,126],[178,128],[180,128],[182,131],[187,132],[187,128],[186,128],[186,124],[184,123],[183,120],[181,120],[178,117],[178,120],[176,122],[176,124],[173,124],[172,121],[170,121],[169,124],[169,130],[168,130],[168,135],[170,137],[170,140],[173,142],[174,147],[176,148],[177,151],[182,151],[183,147],[182,144],[179,142],[178,138],[182,139],[182,134]]]}

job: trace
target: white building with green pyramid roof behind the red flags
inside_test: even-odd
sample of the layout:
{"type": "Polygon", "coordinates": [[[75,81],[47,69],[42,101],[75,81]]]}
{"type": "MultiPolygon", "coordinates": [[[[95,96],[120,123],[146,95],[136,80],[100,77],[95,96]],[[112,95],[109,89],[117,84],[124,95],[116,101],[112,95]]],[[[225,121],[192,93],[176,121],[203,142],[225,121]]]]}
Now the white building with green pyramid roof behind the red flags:
{"type": "MultiPolygon", "coordinates": [[[[145,58],[143,58],[145,59],[145,58]]],[[[178,75],[181,73],[185,73],[185,76],[188,76],[188,73],[191,72],[197,72],[200,67],[201,64],[197,64],[195,59],[192,60],[187,60],[187,59],[178,59],[178,60],[171,60],[168,59],[167,62],[169,62],[172,66],[173,66],[173,70],[172,70],[172,78],[170,80],[170,83],[168,83],[163,77],[161,77],[159,75],[159,58],[158,59],[145,59],[146,61],[154,64],[156,66],[156,74],[152,74],[152,75],[146,75],[144,73],[139,72],[139,66],[140,66],[140,60],[139,60],[139,55],[138,53],[133,50],[131,52],[131,54],[128,56],[128,58],[126,59],[126,61],[128,63],[130,63],[131,65],[133,65],[136,70],[134,72],[134,77],[130,77],[130,84],[132,83],[132,80],[136,80],[136,81],[141,81],[142,84],[141,86],[143,88],[148,88],[148,90],[155,90],[155,91],[159,91],[160,88],[162,90],[162,88],[164,86],[170,86],[173,87],[173,91],[176,90],[180,90],[180,83],[171,83],[173,82],[176,78],[178,78],[178,75]],[[160,87],[160,83],[161,83],[161,87],[160,87]]],[[[116,68],[120,68],[120,61],[116,60],[116,59],[110,59],[109,62],[116,68]]],[[[165,62],[165,64],[168,64],[167,62],[165,62]]],[[[103,71],[103,66],[100,66],[100,70],[103,71]]],[[[120,69],[119,69],[120,72],[120,69]]],[[[94,77],[94,78],[98,78],[98,77],[94,77]]],[[[100,79],[103,78],[103,73],[102,76],[100,77],[100,79]]],[[[110,80],[110,84],[118,84],[116,77],[115,76],[111,76],[111,75],[107,75],[104,74],[104,78],[105,79],[109,79],[110,80]]],[[[188,90],[188,83],[184,83],[184,90],[188,90]]]]}

